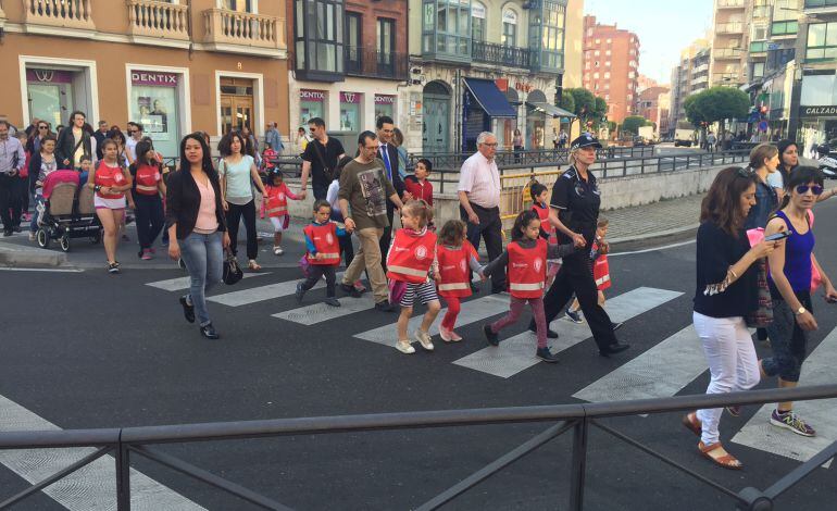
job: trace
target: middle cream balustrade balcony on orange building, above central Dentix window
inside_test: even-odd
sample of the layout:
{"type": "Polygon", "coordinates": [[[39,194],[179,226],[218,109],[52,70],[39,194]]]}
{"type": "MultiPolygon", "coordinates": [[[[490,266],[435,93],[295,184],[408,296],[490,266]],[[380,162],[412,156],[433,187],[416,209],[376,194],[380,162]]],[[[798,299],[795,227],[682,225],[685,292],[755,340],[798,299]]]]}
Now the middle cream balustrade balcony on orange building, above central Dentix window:
{"type": "Polygon", "coordinates": [[[189,40],[189,7],[159,0],[127,0],[128,34],[136,38],[189,40]]]}

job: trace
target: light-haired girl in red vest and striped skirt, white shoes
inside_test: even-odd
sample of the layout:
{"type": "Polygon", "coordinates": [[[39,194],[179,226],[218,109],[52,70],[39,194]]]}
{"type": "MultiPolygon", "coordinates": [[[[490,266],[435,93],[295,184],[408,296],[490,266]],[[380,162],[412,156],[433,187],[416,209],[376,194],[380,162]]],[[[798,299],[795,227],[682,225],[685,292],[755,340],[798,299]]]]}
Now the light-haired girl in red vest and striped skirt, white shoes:
{"type": "Polygon", "coordinates": [[[441,309],[434,283],[439,278],[436,235],[427,229],[432,220],[433,213],[426,202],[409,201],[401,209],[402,228],[396,232],[387,252],[387,277],[393,290],[391,295],[400,295],[401,306],[396,349],[408,354],[415,353],[407,332],[410,316],[413,315],[413,303],[418,299],[427,306],[422,325],[413,336],[426,351],[433,351],[429,329],[441,309]],[[395,291],[397,289],[402,292],[395,291]]]}

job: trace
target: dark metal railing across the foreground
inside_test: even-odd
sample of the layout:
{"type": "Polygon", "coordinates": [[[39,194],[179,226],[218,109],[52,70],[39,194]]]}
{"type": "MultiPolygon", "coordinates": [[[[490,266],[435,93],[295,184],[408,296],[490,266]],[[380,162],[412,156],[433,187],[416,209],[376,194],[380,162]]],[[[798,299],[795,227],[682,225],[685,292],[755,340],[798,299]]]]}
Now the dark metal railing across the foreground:
{"type": "MultiPolygon", "coordinates": [[[[594,426],[608,433],[613,438],[633,446],[646,454],[655,458],[660,462],[724,494],[738,506],[738,509],[766,511],[774,509],[775,500],[782,496],[782,494],[801,482],[821,464],[837,456],[837,441],[833,443],[812,457],[809,461],[800,464],[790,473],[763,490],[754,487],[746,487],[736,491],[735,489],[711,481],[672,458],[658,452],[653,448],[630,438],[611,425],[604,424],[603,420],[646,413],[658,414],[691,411],[696,409],[721,408],[734,404],[762,404],[778,401],[805,401],[832,398],[837,398],[837,385],[797,387],[794,389],[751,390],[720,395],[678,396],[664,399],[642,399],[600,403],[583,402],[541,407],[441,410],[107,429],[5,432],[0,433],[0,449],[4,450],[70,447],[93,447],[97,448],[97,450],[43,481],[36,483],[32,487],[3,500],[0,502],[0,509],[8,509],[47,488],[51,484],[75,473],[95,460],[113,452],[116,462],[116,509],[118,511],[127,511],[130,509],[130,459],[133,456],[138,456],[146,460],[167,466],[180,474],[205,483],[260,508],[289,510],[290,508],[270,497],[260,495],[257,491],[149,446],[349,432],[557,422],[544,432],[515,447],[508,453],[501,456],[415,509],[422,511],[439,509],[474,486],[501,472],[517,460],[534,452],[564,433],[572,431],[573,444],[572,458],[570,461],[571,476],[569,482],[570,497],[567,509],[574,511],[583,510],[587,450],[591,440],[589,431],[590,427],[594,426]]],[[[611,460],[611,462],[616,461],[619,460],[611,460]]],[[[837,495],[835,497],[837,497],[837,495]]]]}

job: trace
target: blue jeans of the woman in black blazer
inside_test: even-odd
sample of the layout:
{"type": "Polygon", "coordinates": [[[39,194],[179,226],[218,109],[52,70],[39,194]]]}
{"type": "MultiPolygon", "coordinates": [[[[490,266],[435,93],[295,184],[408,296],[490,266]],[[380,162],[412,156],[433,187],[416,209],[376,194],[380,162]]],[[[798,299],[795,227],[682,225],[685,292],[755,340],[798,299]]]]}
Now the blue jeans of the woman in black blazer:
{"type": "Polygon", "coordinates": [[[195,315],[200,326],[210,323],[207,310],[207,291],[221,282],[224,271],[223,233],[192,233],[180,240],[180,258],[186,263],[191,285],[186,301],[195,306],[195,315]]]}

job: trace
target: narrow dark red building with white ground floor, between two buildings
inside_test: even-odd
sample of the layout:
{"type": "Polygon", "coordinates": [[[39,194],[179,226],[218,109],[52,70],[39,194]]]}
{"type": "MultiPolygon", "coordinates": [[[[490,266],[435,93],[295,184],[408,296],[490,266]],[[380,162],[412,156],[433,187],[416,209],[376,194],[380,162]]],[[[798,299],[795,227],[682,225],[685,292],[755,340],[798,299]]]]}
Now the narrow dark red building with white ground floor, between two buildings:
{"type": "Polygon", "coordinates": [[[407,0],[288,1],[293,133],[321,117],[350,150],[382,115],[409,124],[407,11],[407,0]]]}

